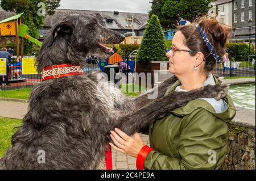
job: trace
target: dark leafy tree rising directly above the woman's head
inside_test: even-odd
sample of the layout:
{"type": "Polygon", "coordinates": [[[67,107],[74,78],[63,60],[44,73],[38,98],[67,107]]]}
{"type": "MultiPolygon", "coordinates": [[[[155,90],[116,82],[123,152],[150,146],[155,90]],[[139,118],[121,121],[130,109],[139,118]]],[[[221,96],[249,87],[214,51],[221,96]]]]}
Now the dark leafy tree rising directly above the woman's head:
{"type": "MultiPolygon", "coordinates": [[[[155,15],[160,19],[163,28],[174,29],[181,18],[193,22],[207,14],[209,3],[213,0],[155,0],[155,15]]],[[[151,6],[150,16],[154,6],[151,6]]]]}

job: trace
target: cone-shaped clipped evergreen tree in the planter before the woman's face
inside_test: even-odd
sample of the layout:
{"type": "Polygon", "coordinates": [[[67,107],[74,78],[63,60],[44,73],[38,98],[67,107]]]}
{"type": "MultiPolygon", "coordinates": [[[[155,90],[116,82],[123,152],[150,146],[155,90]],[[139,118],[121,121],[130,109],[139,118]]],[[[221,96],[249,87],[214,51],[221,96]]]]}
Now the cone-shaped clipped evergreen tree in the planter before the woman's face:
{"type": "Polygon", "coordinates": [[[159,19],[152,15],[146,26],[141,46],[137,52],[138,62],[167,61],[166,45],[159,19]]]}

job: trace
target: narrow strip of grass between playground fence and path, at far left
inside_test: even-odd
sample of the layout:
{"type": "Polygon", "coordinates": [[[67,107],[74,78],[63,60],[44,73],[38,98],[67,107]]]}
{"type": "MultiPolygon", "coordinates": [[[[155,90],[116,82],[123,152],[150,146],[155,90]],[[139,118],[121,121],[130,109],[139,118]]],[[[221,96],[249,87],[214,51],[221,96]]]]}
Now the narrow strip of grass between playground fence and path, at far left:
{"type": "Polygon", "coordinates": [[[32,88],[0,90],[0,98],[29,99],[32,88]]]}

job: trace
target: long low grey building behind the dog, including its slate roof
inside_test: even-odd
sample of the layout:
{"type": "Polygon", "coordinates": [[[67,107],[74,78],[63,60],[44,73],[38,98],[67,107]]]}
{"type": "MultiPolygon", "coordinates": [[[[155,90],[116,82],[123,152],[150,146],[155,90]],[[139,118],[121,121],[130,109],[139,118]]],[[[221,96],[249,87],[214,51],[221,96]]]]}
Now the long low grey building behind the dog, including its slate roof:
{"type": "MultiPolygon", "coordinates": [[[[39,39],[44,39],[51,27],[55,26],[65,16],[71,14],[92,15],[97,18],[102,26],[110,30],[118,31],[119,33],[134,31],[136,36],[143,36],[148,20],[148,14],[143,13],[56,9],[54,15],[47,15],[44,19],[44,24],[39,30],[39,39]]],[[[15,15],[14,12],[6,12],[0,7],[0,20],[13,15],[15,15]]]]}

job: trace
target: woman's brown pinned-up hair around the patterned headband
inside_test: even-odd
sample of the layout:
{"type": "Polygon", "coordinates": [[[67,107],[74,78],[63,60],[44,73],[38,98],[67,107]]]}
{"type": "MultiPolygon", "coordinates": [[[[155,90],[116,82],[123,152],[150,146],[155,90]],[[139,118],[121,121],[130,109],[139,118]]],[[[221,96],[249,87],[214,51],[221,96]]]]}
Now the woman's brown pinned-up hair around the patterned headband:
{"type": "MultiPolygon", "coordinates": [[[[225,54],[225,43],[228,40],[230,33],[234,30],[225,24],[219,23],[216,19],[201,18],[199,22],[188,24],[179,27],[185,36],[184,44],[193,51],[202,52],[205,58],[206,72],[211,71],[216,65],[216,59],[210,53],[203,40],[203,37],[196,26],[199,26],[207,35],[208,40],[216,50],[218,56],[222,57],[225,54]]],[[[189,52],[191,56],[195,56],[196,52],[189,52]]]]}

